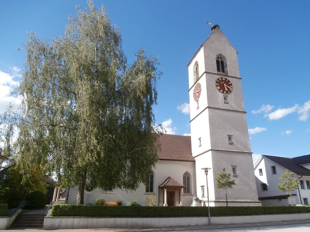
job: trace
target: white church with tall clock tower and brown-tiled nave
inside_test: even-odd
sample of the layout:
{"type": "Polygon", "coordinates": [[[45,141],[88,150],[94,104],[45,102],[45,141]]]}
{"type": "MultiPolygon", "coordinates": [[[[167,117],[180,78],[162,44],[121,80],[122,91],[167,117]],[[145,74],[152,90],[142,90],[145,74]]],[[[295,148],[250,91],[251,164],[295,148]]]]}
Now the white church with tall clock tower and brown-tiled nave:
{"type": "MultiPolygon", "coordinates": [[[[261,206],[237,51],[218,25],[211,29],[210,37],[188,63],[191,136],[160,136],[159,161],[150,170],[147,185],[141,184],[134,192],[86,189],[84,204],[102,197],[106,202],[136,200],[148,205],[147,198],[154,195],[158,206],[190,206],[197,195],[206,206],[208,192],[210,206],[226,206],[225,192],[216,187],[215,180],[216,173],[225,168],[236,183],[227,191],[228,205],[261,206]],[[207,175],[204,168],[209,168],[207,175]]],[[[76,204],[76,196],[76,190],[70,189],[68,204],[76,204]]]]}

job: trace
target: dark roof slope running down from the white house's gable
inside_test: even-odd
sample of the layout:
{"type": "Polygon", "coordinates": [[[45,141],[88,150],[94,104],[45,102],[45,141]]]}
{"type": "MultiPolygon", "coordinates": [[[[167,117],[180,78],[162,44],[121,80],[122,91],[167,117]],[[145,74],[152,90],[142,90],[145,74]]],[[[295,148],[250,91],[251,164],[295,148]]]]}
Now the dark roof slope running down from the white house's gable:
{"type": "Polygon", "coordinates": [[[281,165],[282,167],[296,173],[299,176],[310,176],[310,170],[303,166],[297,165],[292,158],[266,155],[263,155],[263,157],[268,158],[269,160],[281,165]]]}

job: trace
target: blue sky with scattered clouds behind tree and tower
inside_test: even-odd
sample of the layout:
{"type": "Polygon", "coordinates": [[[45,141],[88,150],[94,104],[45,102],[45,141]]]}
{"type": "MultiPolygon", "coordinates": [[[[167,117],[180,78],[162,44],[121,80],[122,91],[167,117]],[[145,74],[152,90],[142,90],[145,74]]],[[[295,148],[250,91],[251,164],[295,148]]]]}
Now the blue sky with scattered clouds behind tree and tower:
{"type": "MultiPolygon", "coordinates": [[[[310,154],[310,1],[94,1],[106,6],[122,31],[129,61],[144,47],[159,56],[157,123],[172,134],[189,134],[188,68],[208,37],[207,20],[219,24],[237,49],[253,159],[260,155],[310,154]],[[182,112],[183,111],[183,112],[182,112]]],[[[9,88],[18,84],[34,30],[42,39],[64,33],[68,15],[86,1],[3,1],[0,14],[0,114],[9,88]]],[[[211,33],[211,32],[210,32],[211,33]]]]}

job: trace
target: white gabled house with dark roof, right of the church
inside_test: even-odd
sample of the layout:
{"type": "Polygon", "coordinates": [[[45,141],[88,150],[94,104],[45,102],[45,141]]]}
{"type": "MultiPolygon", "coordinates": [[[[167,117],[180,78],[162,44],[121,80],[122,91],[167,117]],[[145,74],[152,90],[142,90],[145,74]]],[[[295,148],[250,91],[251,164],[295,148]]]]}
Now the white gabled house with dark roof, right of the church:
{"type": "Polygon", "coordinates": [[[310,200],[310,155],[294,158],[261,156],[254,165],[258,199],[262,205],[289,205],[289,195],[277,188],[283,183],[278,178],[285,170],[295,174],[298,189],[291,192],[293,204],[309,205],[310,200]]]}

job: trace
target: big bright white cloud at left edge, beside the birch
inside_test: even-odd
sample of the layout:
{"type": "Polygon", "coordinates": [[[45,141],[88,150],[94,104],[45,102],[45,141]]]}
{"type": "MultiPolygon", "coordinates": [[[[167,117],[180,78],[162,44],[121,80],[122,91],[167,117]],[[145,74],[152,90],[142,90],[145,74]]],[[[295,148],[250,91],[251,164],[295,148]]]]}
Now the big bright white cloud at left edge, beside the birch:
{"type": "Polygon", "coordinates": [[[20,69],[17,67],[11,68],[12,74],[0,71],[0,114],[3,114],[10,102],[14,105],[13,109],[17,109],[20,105],[20,99],[11,95],[11,89],[15,88],[19,82],[14,80],[15,77],[20,77],[20,69]]]}

